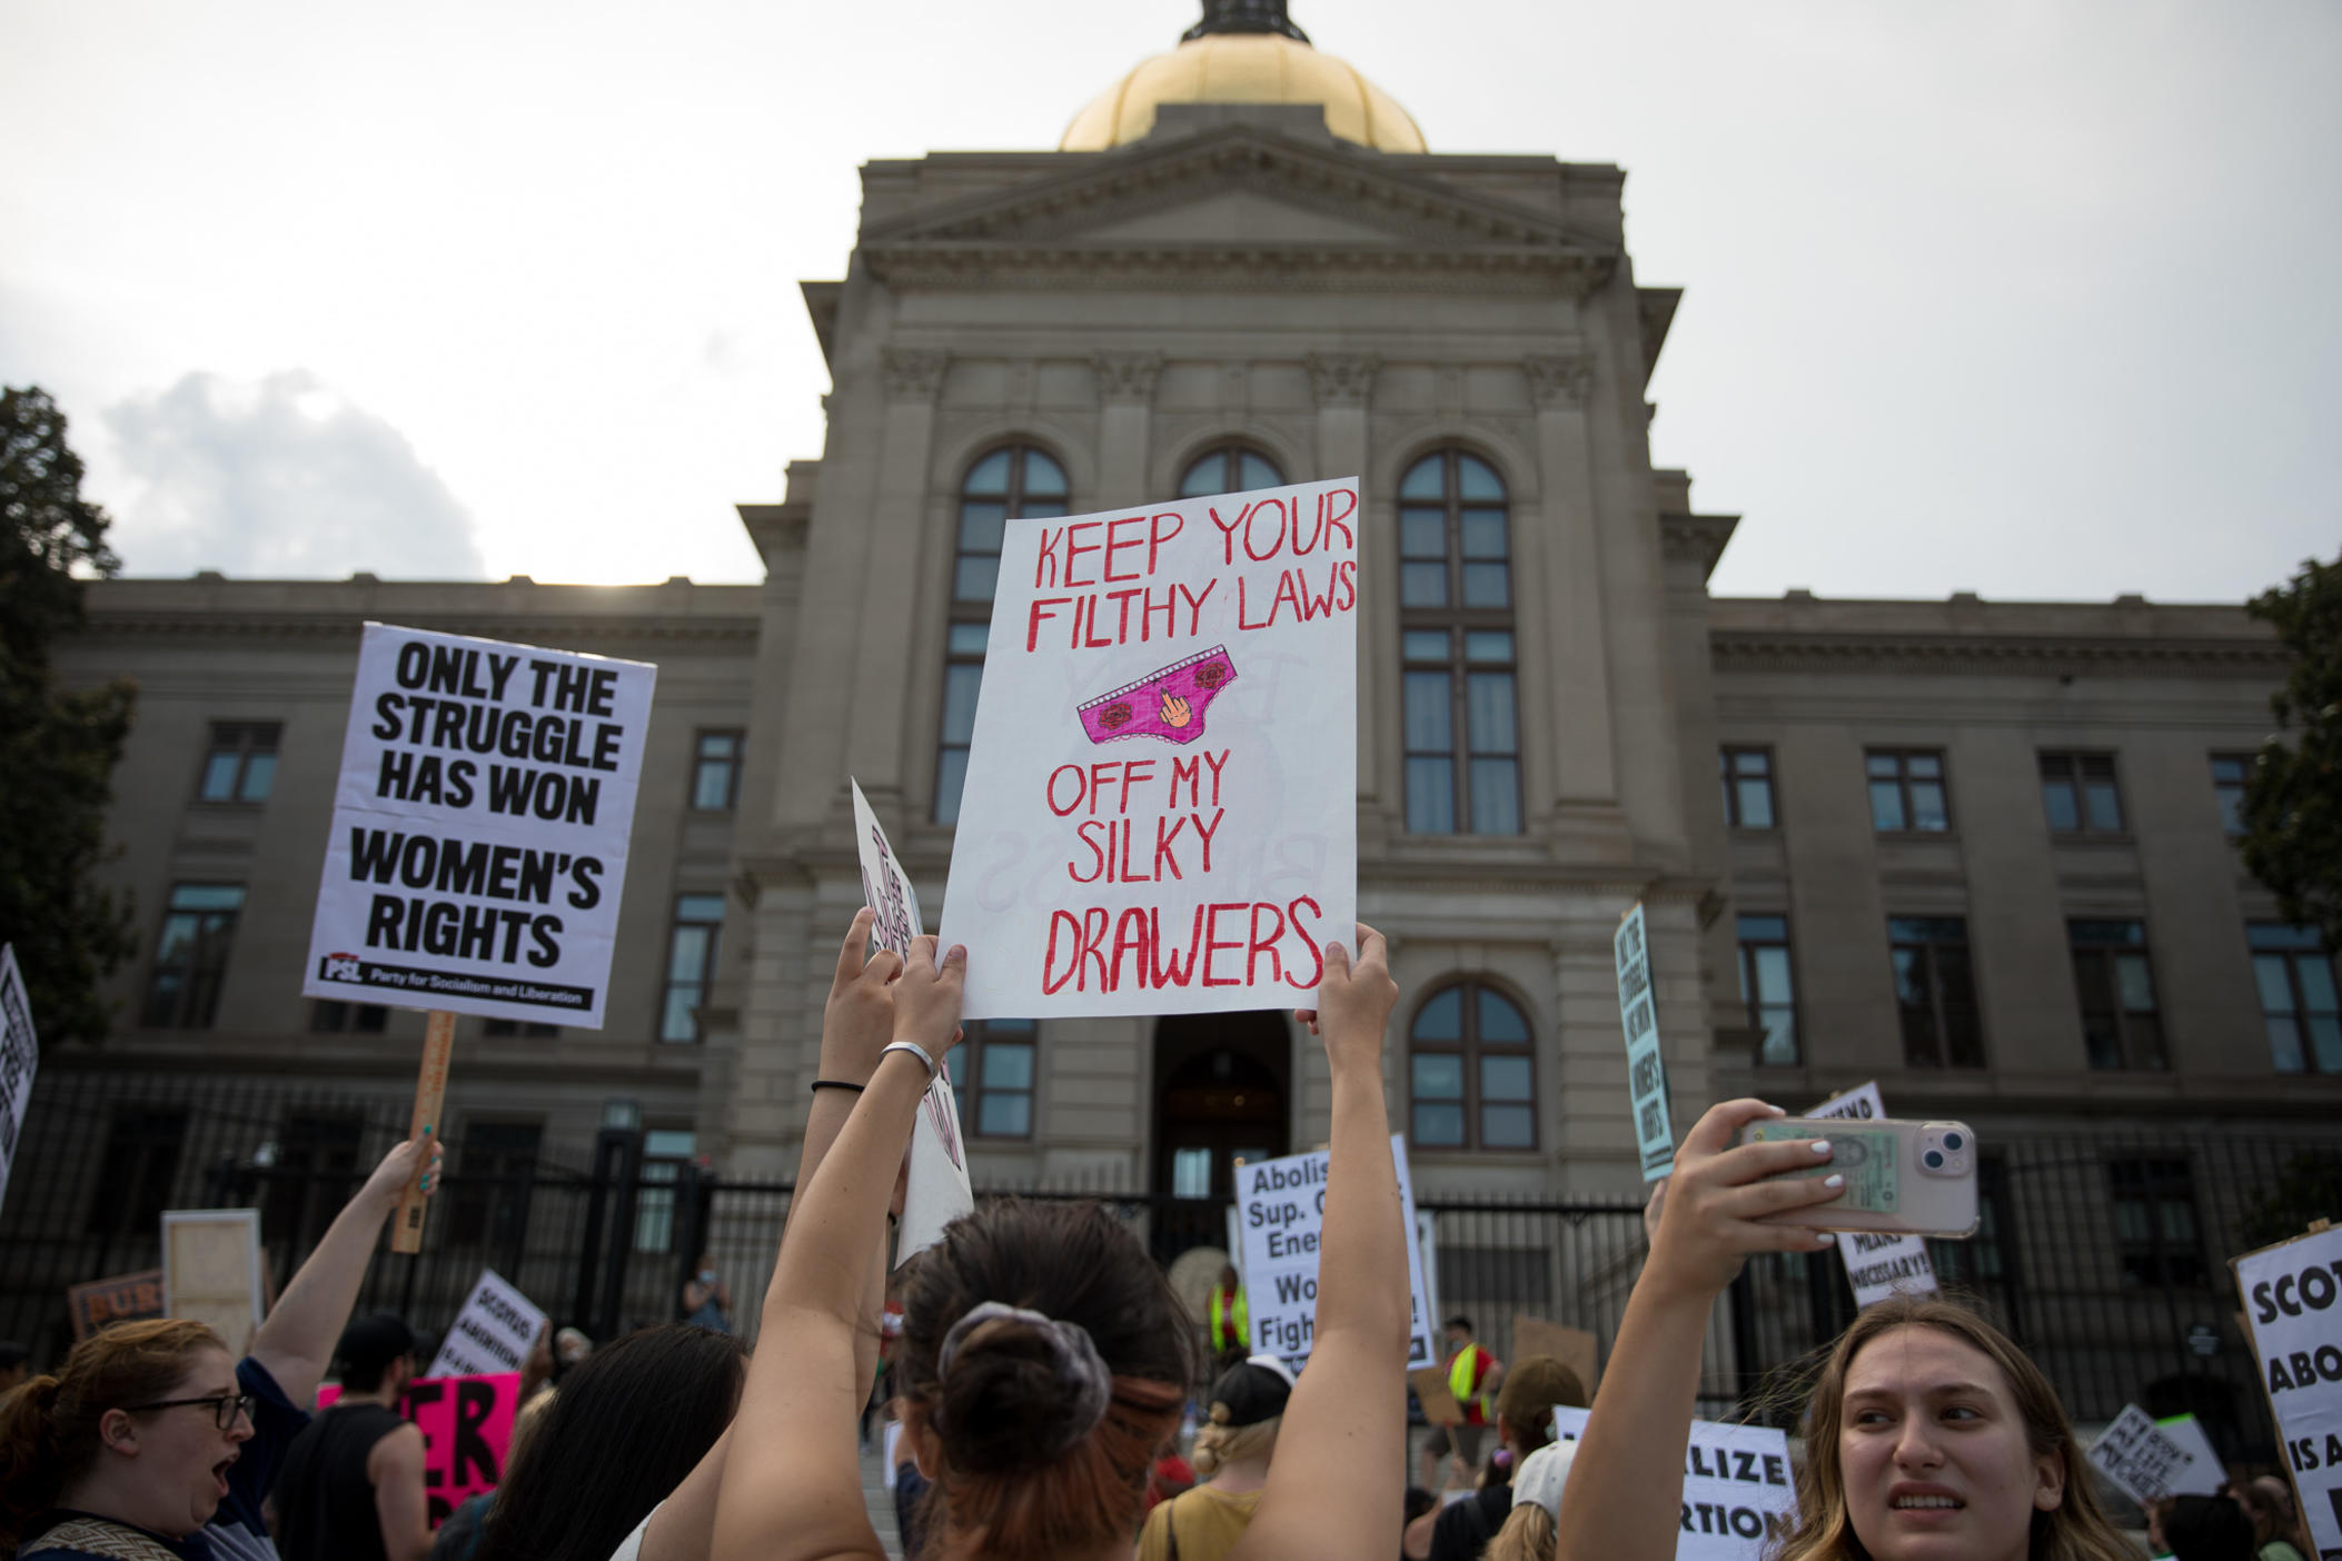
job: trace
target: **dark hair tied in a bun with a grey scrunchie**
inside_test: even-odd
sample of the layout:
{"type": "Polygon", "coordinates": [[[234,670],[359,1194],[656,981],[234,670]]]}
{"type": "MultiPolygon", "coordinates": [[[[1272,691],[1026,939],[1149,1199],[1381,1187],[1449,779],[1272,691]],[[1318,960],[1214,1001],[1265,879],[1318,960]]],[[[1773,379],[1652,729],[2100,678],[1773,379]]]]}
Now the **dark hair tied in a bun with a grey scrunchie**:
{"type": "Polygon", "coordinates": [[[970,1561],[1087,1554],[1138,1528],[1148,1472],[1194,1381],[1194,1332],[1162,1268],[1103,1208],[1002,1198],[953,1219],[920,1254],[895,1371],[906,1428],[932,1428],[941,1446],[923,1512],[930,1540],[970,1561]],[[1056,1346],[1035,1325],[977,1327],[939,1381],[944,1336],[984,1301],[1089,1334],[1112,1395],[1073,1446],[1056,1346]]]}

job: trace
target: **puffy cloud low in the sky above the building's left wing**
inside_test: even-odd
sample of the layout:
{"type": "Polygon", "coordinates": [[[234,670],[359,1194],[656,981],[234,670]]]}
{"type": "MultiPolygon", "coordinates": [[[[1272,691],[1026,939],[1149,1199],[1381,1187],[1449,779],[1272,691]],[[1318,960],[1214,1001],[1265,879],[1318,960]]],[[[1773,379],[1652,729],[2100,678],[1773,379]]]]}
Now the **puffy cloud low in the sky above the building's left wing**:
{"type": "Polygon", "coordinates": [[[105,426],[138,484],[115,524],[129,573],[485,573],[471,515],[408,438],[307,370],[187,374],[105,426]]]}

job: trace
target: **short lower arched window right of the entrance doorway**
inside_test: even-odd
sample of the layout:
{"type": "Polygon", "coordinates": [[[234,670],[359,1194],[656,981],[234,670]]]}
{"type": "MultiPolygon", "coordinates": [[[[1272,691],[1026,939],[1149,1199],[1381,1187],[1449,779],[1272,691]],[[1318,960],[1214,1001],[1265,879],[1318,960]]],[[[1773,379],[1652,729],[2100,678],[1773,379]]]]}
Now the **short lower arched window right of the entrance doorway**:
{"type": "Polygon", "coordinates": [[[1497,988],[1440,988],[1408,1030],[1408,1098],[1419,1149],[1536,1149],[1536,1046],[1497,988]]]}

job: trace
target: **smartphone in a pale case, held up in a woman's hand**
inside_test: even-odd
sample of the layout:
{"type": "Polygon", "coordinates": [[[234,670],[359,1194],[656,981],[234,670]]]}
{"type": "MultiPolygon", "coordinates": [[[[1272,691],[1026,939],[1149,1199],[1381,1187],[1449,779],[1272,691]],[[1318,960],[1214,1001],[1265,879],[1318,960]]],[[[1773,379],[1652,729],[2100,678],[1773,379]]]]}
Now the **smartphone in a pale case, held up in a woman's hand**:
{"type": "Polygon", "coordinates": [[[1850,1121],[1843,1116],[1775,1116],[1740,1130],[1742,1144],[1827,1137],[1829,1158],[1785,1177],[1845,1177],[1831,1203],[1766,1215],[1775,1224],[1815,1231],[1883,1231],[1895,1236],[1977,1233],[1977,1133],[1965,1121],[1850,1121]]]}

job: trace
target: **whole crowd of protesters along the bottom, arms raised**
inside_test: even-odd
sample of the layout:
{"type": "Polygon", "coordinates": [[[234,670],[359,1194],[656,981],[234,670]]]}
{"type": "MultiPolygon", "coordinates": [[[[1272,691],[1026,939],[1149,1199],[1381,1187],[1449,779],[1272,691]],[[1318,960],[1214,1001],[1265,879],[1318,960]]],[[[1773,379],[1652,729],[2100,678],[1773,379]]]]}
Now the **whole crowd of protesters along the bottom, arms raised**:
{"type": "MultiPolygon", "coordinates": [[[[590,1348],[564,1329],[529,1364],[504,1479],[429,1531],[424,1446],[398,1414],[405,1322],[349,1322],[400,1191],[438,1180],[424,1130],[333,1222],[241,1357],[199,1322],[122,1322],[0,1400],[0,1554],[16,1561],[876,1561],[862,1488],[869,1414],[892,1421],[904,1554],[918,1561],[1660,1561],[1710,1311],[1759,1252],[1824,1236],[1768,1219],[1838,1196],[1780,1177],[1824,1140],[1742,1144],[1775,1107],[1733,1100],[1684,1137],[1656,1203],[1602,1392],[1550,1357],[1511,1367],[1447,1325],[1461,1423],[1408,1488],[1408,1231],[1384,1116],[1396,999],[1384,941],[1326,950],[1330,1077],[1314,1353],[1295,1378],[1241,1355],[1223,1273],[1192,1318],[1096,1203],[991,1201],[890,1294],[913,1112],[960,1037],[965,950],[869,953],[855,917],[824,1009],[799,1196],[763,1292],[763,1348],[733,1336],[712,1259],[684,1322],[590,1348]],[[1213,1376],[1199,1388],[1201,1336],[1213,1376]],[[311,1416],[328,1367],[340,1402],[311,1416]],[[883,1383],[874,1392],[874,1383],[883,1383]],[[536,1381],[532,1381],[536,1388],[536,1381]],[[1197,1414],[1199,1411],[1199,1414],[1197,1414]],[[1192,1467],[1178,1458],[1197,1416],[1192,1467]],[[860,1421],[860,1428],[857,1428],[860,1421]],[[1494,1449],[1480,1449],[1494,1432],[1494,1449]]],[[[0,1371],[21,1367],[0,1360],[0,1371]]],[[[2131,1561],[2042,1371],[1979,1315],[1874,1306],[1801,1407],[1796,1526],[1780,1561],[2131,1561]]],[[[2180,1561],[2305,1561],[2283,1481],[2150,1514],[2180,1561]]]]}

